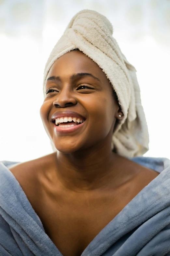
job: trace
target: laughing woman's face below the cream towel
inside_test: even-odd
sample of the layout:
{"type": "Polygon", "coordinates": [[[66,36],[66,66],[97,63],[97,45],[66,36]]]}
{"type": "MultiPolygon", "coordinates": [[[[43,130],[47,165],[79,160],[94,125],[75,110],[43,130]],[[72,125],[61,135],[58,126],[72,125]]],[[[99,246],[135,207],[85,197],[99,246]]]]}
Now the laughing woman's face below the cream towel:
{"type": "Polygon", "coordinates": [[[109,80],[93,60],[78,50],[64,54],[50,68],[45,92],[40,116],[57,150],[73,153],[108,141],[111,145],[113,128],[120,114],[119,106],[109,80]],[[56,126],[52,122],[52,117],[74,117],[74,114],[76,120],[80,117],[85,121],[72,121],[70,124],[74,123],[74,126],[68,128],[62,125],[69,123],[56,126]]]}

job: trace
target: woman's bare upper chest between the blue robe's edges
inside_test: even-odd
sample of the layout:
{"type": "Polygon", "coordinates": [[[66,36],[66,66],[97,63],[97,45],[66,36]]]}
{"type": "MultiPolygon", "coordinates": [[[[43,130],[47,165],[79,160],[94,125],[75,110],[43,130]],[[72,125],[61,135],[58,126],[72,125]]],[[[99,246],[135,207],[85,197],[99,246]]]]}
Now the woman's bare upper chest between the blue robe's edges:
{"type": "MultiPolygon", "coordinates": [[[[80,256],[92,240],[138,194],[135,184],[89,196],[41,194],[31,202],[45,232],[64,256],[80,256]]],[[[31,199],[30,199],[31,200],[31,199]]]]}

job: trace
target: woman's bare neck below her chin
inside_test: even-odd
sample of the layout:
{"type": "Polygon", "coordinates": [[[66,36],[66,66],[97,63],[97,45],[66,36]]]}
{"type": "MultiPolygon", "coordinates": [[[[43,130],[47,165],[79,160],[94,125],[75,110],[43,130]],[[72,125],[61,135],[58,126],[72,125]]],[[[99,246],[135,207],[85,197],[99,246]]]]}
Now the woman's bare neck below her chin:
{"type": "Polygon", "coordinates": [[[85,192],[105,188],[120,175],[120,157],[105,146],[70,154],[55,152],[54,157],[57,179],[68,190],[85,192]]]}

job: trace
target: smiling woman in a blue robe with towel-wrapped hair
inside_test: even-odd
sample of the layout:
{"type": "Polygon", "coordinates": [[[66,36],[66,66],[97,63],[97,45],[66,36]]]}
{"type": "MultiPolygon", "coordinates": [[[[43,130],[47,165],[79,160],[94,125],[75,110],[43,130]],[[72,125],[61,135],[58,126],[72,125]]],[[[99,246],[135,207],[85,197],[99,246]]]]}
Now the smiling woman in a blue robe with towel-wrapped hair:
{"type": "Polygon", "coordinates": [[[78,12],[44,72],[54,153],[0,162],[0,255],[170,255],[170,160],[149,135],[135,67],[103,15],[78,12]]]}

